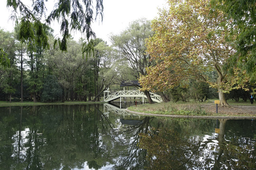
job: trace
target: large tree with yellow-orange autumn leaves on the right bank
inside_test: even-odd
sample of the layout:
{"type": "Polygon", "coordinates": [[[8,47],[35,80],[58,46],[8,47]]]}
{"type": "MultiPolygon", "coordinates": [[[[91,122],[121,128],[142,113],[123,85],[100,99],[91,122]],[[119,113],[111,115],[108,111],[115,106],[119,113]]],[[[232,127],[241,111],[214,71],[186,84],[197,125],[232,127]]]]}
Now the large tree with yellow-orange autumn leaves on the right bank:
{"type": "Polygon", "coordinates": [[[147,52],[156,66],[147,68],[147,76],[140,78],[143,89],[164,91],[183,80],[197,79],[218,88],[220,104],[228,105],[223,92],[229,82],[223,64],[236,52],[228,23],[209,0],[169,0],[169,8],[153,21],[155,35],[147,40],[147,52]],[[218,73],[216,82],[205,74],[211,71],[218,73]]]}

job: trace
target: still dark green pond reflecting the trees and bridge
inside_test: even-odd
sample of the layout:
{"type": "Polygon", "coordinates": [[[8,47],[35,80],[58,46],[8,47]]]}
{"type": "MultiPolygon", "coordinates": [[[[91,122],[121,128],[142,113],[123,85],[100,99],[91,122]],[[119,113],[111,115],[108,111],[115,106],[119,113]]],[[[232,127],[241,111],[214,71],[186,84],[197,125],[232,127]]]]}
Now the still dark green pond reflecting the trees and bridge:
{"type": "Polygon", "coordinates": [[[256,120],[128,114],[110,104],[0,107],[0,170],[256,170],[256,120]]]}

